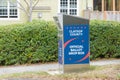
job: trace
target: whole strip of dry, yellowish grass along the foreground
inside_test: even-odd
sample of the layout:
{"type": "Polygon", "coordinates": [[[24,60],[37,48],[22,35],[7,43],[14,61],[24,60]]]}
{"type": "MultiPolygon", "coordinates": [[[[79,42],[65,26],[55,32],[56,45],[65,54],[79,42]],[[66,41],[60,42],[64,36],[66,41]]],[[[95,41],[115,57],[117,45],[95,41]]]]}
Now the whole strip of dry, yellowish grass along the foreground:
{"type": "Polygon", "coordinates": [[[86,72],[61,75],[49,75],[46,72],[25,72],[2,75],[0,79],[8,78],[44,78],[47,80],[120,80],[120,65],[91,66],[86,72]]]}

